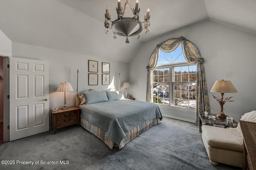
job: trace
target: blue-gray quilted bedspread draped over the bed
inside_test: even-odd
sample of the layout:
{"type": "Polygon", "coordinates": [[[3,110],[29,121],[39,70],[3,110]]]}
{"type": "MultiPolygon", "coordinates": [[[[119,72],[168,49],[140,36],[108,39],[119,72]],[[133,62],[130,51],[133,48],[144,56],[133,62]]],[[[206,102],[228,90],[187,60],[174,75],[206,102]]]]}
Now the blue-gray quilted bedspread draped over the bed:
{"type": "Polygon", "coordinates": [[[120,144],[125,133],[162,114],[155,103],[113,100],[81,105],[81,118],[107,132],[108,138],[120,144]]]}

